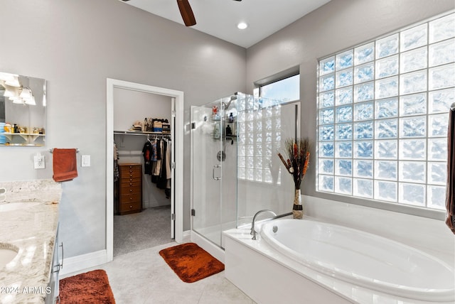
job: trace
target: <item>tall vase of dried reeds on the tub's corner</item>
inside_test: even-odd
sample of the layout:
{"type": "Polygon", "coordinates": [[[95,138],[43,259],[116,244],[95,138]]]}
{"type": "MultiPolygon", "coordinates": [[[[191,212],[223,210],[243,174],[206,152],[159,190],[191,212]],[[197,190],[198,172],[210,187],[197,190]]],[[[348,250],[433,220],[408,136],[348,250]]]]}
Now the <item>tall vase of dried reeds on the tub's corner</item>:
{"type": "Polygon", "coordinates": [[[294,219],[301,219],[304,216],[304,207],[301,202],[301,181],[304,180],[306,170],[310,161],[310,150],[308,139],[287,139],[284,141],[284,153],[287,156],[285,161],[282,153],[278,153],[284,167],[294,179],[294,205],[292,215],[294,219]]]}

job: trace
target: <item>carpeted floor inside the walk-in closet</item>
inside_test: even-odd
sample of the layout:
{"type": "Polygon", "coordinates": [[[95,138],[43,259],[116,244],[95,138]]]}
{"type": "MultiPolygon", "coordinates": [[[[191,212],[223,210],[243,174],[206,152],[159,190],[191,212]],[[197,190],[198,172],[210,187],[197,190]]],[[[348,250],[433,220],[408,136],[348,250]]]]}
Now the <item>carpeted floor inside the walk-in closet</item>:
{"type": "Polygon", "coordinates": [[[171,241],[171,205],[114,215],[114,256],[171,241]]]}

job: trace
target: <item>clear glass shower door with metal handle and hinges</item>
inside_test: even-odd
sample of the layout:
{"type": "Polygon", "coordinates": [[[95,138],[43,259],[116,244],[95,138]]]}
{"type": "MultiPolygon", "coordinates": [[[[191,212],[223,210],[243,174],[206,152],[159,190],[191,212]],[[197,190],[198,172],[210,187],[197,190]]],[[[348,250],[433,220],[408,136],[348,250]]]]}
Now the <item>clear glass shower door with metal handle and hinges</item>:
{"type": "Polygon", "coordinates": [[[193,231],[221,246],[223,117],[222,99],[191,107],[193,231]]]}

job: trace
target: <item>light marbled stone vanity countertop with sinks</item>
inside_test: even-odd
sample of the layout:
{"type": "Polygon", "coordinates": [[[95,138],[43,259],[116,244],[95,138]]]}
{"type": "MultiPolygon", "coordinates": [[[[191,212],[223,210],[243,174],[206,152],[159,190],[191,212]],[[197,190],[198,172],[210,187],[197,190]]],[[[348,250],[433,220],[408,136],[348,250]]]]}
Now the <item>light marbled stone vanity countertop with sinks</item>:
{"type": "Polygon", "coordinates": [[[3,182],[0,188],[6,189],[0,195],[0,248],[18,251],[0,269],[0,303],[44,303],[61,186],[53,180],[33,180],[3,182]],[[9,208],[16,202],[21,206],[9,208]]]}

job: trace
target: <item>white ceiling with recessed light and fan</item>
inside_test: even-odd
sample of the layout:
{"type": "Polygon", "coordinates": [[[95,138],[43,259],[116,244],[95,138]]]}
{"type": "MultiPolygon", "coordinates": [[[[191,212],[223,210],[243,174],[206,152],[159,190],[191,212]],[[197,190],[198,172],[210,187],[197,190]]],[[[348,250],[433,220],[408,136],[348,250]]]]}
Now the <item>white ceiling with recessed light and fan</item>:
{"type": "MultiPolygon", "coordinates": [[[[244,48],[259,42],[330,0],[189,0],[192,28],[244,48]],[[237,23],[248,24],[239,30],[237,23]]],[[[126,4],[183,24],[177,0],[129,0],[126,4]]]]}

